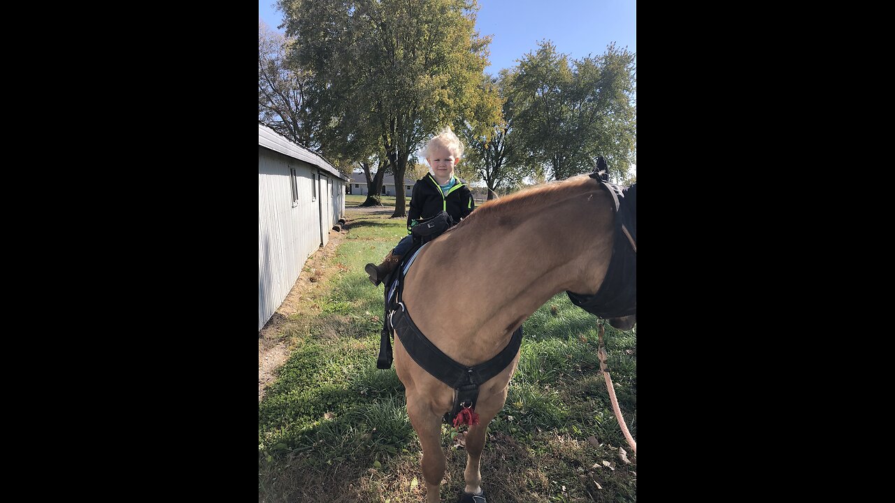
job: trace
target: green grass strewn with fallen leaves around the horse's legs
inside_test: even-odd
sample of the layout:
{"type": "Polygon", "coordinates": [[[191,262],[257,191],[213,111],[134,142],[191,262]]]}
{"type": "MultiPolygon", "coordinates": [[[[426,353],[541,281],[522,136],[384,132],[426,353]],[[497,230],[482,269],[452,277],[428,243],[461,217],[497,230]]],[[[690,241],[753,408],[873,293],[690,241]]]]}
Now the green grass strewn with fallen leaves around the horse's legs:
{"type": "MultiPolygon", "coordinates": [[[[350,208],[364,196],[346,198],[350,208]]],[[[425,492],[404,387],[394,367],[376,368],[382,289],[363,272],[405,235],[405,221],[350,210],[348,216],[348,234],[328,264],[340,272],[290,317],[283,337],[292,354],[259,405],[259,501],[325,495],[329,502],[418,503],[425,492]]],[[[489,502],[636,501],[636,461],[618,459],[619,446],[630,449],[599,371],[596,319],[558,294],[523,329],[507,403],[490,423],[482,454],[489,502]]],[[[636,328],[607,324],[605,340],[619,405],[636,439],[636,328]]],[[[441,499],[453,501],[464,486],[465,451],[453,447],[452,430],[442,433],[441,499]]]]}

